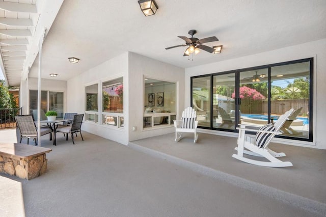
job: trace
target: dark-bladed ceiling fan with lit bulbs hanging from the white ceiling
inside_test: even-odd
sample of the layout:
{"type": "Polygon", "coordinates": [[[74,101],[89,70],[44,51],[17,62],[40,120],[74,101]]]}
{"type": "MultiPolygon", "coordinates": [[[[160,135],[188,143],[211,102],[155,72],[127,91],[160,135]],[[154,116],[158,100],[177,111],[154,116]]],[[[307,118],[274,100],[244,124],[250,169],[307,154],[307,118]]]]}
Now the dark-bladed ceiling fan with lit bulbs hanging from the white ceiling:
{"type": "Polygon", "coordinates": [[[207,43],[207,42],[212,42],[212,41],[219,41],[218,38],[216,38],[215,36],[212,37],[208,37],[208,38],[203,38],[203,39],[198,39],[195,38],[194,35],[197,33],[196,30],[189,30],[188,34],[191,35],[191,38],[187,38],[185,36],[178,36],[179,38],[183,39],[185,41],[185,44],[180,44],[180,45],[176,45],[176,46],[172,46],[172,47],[167,47],[165,49],[171,49],[171,48],[175,48],[175,47],[184,47],[184,46],[189,46],[187,47],[187,49],[184,51],[183,56],[189,56],[191,55],[191,53],[195,52],[195,55],[197,53],[200,52],[199,49],[205,50],[207,52],[214,52],[215,49],[206,45],[203,45],[203,43],[207,43]]]}

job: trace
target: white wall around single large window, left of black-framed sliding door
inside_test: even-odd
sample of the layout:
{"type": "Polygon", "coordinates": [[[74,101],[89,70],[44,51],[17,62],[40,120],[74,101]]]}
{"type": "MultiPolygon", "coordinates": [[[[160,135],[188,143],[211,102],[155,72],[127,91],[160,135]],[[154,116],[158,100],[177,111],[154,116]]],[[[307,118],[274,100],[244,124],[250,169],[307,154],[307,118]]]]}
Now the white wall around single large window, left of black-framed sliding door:
{"type": "Polygon", "coordinates": [[[184,69],[129,52],[129,141],[174,132],[173,125],[143,129],[144,77],[176,83],[177,114],[184,110],[184,69]],[[137,130],[132,131],[132,126],[137,130]]]}

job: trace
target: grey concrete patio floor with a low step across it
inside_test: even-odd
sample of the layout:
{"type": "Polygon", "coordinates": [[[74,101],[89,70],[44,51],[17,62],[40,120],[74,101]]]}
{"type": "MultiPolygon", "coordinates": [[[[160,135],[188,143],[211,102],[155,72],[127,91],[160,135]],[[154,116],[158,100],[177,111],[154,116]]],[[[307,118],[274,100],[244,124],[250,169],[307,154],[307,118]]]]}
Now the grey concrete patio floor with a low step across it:
{"type": "MultiPolygon", "coordinates": [[[[2,174],[3,185],[19,182],[22,193],[3,196],[0,215],[326,215],[326,150],[271,144],[294,166],[264,168],[231,157],[236,138],[200,133],[197,144],[191,134],[176,143],[171,133],[124,146],[83,136],[84,142],[78,136],[73,145],[58,134],[57,146],[42,137],[42,147],[52,148],[42,176],[21,180],[2,174]],[[20,215],[5,212],[15,197],[20,215]]],[[[6,189],[0,191],[4,195],[6,189]]]]}

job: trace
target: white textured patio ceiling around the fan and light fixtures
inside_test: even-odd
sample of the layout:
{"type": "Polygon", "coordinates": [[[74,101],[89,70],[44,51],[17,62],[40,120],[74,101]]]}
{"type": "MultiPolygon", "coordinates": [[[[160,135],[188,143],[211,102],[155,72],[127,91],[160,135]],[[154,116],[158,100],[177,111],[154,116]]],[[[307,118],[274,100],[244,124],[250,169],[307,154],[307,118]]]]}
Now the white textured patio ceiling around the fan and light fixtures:
{"type": "MultiPolygon", "coordinates": [[[[188,68],[326,38],[324,0],[156,3],[156,14],[145,17],[137,0],[64,1],[43,44],[42,77],[67,80],[126,51],[188,68]],[[191,29],[199,39],[216,36],[205,45],[223,45],[222,52],[201,51],[189,61],[185,47],[165,49],[183,44],[177,36],[190,37],[191,29]]],[[[37,71],[34,63],[29,76],[37,71]]]]}

